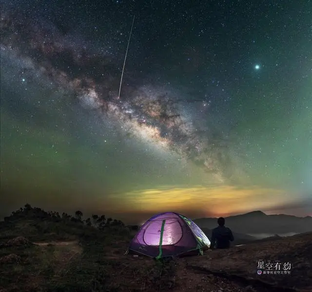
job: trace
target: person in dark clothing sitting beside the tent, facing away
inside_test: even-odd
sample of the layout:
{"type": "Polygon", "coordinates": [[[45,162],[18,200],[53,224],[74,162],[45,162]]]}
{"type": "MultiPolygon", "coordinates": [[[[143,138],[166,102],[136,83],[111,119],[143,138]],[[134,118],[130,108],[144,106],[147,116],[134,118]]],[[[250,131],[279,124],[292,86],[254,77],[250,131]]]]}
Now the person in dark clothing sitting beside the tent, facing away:
{"type": "Polygon", "coordinates": [[[231,229],[224,226],[225,219],[220,217],[218,219],[218,227],[213,229],[211,237],[211,246],[213,249],[215,246],[217,249],[227,249],[230,247],[230,241],[234,240],[233,233],[231,229]]]}

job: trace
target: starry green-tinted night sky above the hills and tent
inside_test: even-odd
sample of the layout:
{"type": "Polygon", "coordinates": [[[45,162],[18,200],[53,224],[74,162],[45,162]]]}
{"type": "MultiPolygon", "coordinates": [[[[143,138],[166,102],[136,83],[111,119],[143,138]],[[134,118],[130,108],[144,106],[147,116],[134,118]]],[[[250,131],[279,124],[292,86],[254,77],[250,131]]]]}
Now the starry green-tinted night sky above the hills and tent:
{"type": "Polygon", "coordinates": [[[2,216],[312,215],[311,0],[2,0],[0,74],[2,216]]]}

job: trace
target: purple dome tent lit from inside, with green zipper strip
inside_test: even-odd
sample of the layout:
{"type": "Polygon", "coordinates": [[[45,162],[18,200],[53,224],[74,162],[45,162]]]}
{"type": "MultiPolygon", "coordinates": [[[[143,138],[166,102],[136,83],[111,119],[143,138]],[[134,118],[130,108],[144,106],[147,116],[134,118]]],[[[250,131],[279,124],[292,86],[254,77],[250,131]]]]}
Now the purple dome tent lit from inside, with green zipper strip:
{"type": "Polygon", "coordinates": [[[178,213],[166,212],[155,215],[139,229],[128,252],[158,259],[203,254],[203,250],[209,247],[209,239],[192,220],[178,213]]]}

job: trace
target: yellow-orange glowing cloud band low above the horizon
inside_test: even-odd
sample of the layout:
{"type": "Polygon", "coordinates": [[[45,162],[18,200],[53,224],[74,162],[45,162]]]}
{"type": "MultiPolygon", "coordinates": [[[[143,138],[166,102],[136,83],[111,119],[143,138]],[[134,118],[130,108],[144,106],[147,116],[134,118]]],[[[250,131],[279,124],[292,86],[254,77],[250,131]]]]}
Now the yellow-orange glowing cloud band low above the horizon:
{"type": "MultiPolygon", "coordinates": [[[[283,190],[256,186],[250,188],[234,186],[163,187],[127,192],[122,202],[116,200],[113,205],[119,207],[122,203],[123,206],[127,206],[126,209],[137,213],[187,210],[207,216],[226,216],[250,210],[272,208],[285,202],[287,197],[283,190]]],[[[117,209],[120,210],[118,207],[117,209]]]]}

